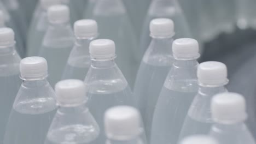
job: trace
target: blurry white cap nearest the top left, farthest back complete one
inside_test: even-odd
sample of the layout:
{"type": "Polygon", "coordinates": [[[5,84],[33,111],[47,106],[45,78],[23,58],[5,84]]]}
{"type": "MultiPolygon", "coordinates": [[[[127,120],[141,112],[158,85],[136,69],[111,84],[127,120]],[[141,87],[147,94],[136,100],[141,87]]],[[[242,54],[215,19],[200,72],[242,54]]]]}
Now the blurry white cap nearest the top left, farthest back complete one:
{"type": "Polygon", "coordinates": [[[67,5],[53,5],[48,9],[48,20],[50,23],[65,23],[69,21],[69,8],[67,5]]]}

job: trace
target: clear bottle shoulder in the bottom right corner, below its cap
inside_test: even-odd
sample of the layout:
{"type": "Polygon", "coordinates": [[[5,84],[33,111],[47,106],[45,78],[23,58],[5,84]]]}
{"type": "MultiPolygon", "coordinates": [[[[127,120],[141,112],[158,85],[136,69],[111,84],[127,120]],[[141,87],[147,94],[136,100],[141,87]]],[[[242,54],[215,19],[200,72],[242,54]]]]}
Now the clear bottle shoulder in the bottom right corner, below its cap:
{"type": "Polygon", "coordinates": [[[210,136],[216,139],[219,144],[255,144],[255,140],[244,123],[236,124],[214,124],[210,131],[210,136]]]}

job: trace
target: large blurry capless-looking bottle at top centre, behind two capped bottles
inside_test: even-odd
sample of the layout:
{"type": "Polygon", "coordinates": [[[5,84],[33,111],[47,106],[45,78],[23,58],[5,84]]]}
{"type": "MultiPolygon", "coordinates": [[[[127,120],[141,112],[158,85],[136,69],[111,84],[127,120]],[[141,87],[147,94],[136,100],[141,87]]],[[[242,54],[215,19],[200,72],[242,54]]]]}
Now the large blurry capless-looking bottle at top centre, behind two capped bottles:
{"type": "Polygon", "coordinates": [[[117,64],[133,87],[139,59],[137,38],[122,0],[96,0],[86,18],[98,22],[99,38],[111,39],[117,45],[117,64]],[[91,15],[89,15],[91,13],[91,15]]]}

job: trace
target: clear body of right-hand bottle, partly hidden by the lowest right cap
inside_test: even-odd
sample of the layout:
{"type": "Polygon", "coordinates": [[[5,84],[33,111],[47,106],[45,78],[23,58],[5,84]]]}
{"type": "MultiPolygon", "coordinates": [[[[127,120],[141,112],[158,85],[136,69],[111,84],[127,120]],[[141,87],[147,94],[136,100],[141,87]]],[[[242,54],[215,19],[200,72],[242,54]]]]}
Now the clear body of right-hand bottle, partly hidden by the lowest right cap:
{"type": "Polygon", "coordinates": [[[183,123],[179,140],[190,135],[207,135],[213,124],[211,113],[212,97],[227,92],[224,86],[200,86],[183,123]]]}

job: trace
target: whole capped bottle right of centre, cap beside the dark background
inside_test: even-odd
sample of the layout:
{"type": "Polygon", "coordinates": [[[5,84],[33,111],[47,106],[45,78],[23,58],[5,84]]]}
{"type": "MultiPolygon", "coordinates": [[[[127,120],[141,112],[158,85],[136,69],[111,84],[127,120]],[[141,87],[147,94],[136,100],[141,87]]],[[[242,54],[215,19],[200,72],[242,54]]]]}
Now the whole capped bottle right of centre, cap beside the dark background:
{"type": "Polygon", "coordinates": [[[196,70],[199,44],[194,39],[174,40],[174,62],[155,106],[151,143],[177,143],[198,85],[196,70]]]}

